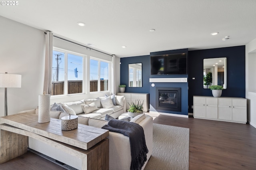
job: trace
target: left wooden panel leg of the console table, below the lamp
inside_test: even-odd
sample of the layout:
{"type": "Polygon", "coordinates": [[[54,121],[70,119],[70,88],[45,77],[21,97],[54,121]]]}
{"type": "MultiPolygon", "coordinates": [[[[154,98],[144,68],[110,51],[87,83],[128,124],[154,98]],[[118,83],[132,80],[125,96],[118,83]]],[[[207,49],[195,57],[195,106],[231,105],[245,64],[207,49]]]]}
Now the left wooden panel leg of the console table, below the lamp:
{"type": "Polygon", "coordinates": [[[28,136],[0,129],[0,164],[28,150],[28,136]]]}

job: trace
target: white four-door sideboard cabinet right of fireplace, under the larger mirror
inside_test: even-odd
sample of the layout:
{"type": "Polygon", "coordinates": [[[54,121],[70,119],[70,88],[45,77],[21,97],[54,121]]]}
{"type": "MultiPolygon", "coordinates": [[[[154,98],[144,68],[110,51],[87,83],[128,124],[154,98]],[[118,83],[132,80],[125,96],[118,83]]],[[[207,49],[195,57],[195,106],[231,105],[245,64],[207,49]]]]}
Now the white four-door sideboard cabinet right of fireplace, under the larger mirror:
{"type": "Polygon", "coordinates": [[[247,122],[247,101],[244,98],[194,96],[193,101],[194,118],[247,122]]]}

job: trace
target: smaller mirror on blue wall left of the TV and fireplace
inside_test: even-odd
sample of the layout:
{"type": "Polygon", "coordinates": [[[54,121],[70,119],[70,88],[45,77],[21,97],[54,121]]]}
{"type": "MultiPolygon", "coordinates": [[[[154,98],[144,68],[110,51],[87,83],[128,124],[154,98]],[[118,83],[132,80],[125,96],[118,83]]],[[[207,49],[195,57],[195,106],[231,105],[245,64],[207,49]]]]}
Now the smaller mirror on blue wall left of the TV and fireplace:
{"type": "Polygon", "coordinates": [[[129,64],[129,87],[142,87],[142,63],[129,64]]]}

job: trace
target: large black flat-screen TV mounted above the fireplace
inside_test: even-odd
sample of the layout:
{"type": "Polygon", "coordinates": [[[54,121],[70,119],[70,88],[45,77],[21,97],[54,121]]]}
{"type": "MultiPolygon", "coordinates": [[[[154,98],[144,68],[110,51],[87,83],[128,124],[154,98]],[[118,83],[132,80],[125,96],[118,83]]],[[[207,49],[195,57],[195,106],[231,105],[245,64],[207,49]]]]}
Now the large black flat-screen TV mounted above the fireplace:
{"type": "Polygon", "coordinates": [[[187,74],[187,53],[150,55],[151,75],[187,74]]]}

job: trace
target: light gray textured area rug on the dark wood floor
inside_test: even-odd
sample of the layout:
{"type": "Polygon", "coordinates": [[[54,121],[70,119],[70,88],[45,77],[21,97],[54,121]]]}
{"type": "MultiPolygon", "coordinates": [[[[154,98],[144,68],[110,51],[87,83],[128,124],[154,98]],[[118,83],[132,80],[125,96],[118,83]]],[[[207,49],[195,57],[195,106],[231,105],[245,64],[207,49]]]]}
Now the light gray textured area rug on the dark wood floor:
{"type": "Polygon", "coordinates": [[[188,170],[189,128],[153,123],[153,152],[145,170],[188,170]]]}

